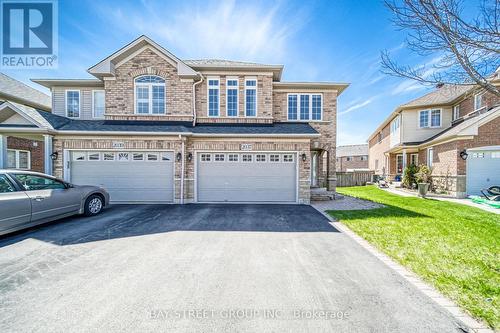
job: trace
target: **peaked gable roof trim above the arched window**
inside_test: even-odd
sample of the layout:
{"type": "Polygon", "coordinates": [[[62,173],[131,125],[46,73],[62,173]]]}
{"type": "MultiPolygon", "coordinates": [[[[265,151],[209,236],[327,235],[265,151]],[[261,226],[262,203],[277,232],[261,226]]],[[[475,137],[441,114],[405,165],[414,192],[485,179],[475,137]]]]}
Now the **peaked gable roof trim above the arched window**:
{"type": "Polygon", "coordinates": [[[146,46],[152,48],[153,50],[157,51],[158,53],[175,63],[177,65],[177,73],[180,76],[198,76],[198,73],[195,70],[186,65],[175,55],[170,53],[167,49],[157,44],[155,41],[145,35],[136,38],[118,51],[114,52],[109,57],[90,67],[87,71],[98,78],[102,78],[104,76],[113,76],[115,65],[118,62],[126,59],[130,55],[133,55],[135,52],[140,51],[146,46]]]}

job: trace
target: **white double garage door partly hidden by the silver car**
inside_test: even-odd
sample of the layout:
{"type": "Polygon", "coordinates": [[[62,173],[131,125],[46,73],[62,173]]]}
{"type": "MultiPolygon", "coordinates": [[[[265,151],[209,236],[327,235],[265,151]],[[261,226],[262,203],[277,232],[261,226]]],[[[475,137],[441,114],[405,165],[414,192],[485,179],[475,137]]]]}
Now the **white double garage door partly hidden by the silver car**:
{"type": "Polygon", "coordinates": [[[73,151],[71,155],[71,182],[102,186],[112,202],[173,201],[171,152],[73,151]]]}

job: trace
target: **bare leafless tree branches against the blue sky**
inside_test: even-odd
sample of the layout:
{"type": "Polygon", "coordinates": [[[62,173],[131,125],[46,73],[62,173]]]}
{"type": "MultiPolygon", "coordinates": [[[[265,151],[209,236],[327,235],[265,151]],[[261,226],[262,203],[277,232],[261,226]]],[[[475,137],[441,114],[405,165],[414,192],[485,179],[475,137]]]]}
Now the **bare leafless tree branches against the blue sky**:
{"type": "Polygon", "coordinates": [[[382,71],[429,84],[477,84],[500,97],[488,78],[500,66],[500,0],[482,0],[478,14],[463,15],[460,0],[385,0],[393,23],[407,31],[415,54],[436,56],[427,66],[400,65],[382,51],[382,71]]]}

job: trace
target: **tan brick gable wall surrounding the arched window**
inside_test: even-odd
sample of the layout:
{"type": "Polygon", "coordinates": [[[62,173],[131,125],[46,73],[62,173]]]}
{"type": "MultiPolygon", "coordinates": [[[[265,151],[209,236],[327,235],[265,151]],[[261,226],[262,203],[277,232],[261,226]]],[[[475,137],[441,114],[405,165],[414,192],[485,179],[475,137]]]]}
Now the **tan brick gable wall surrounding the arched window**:
{"type": "Polygon", "coordinates": [[[192,120],[192,80],[182,80],[177,68],[150,49],[146,49],[115,69],[115,79],[105,80],[106,118],[137,120],[192,120]],[[135,115],[134,79],[158,75],[166,80],[166,115],[135,115]],[[181,119],[176,119],[181,116],[181,119]]]}

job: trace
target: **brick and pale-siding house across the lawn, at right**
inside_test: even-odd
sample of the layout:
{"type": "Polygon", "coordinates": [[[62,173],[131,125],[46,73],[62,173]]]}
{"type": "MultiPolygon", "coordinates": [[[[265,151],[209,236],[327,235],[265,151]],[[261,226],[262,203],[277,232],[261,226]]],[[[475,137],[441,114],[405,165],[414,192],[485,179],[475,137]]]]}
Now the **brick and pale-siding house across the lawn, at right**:
{"type": "MultiPolygon", "coordinates": [[[[500,86],[500,73],[490,78],[500,86]]],[[[394,179],[432,169],[433,189],[457,197],[500,185],[500,99],[475,85],[440,85],[400,105],[373,132],[369,168],[394,179]]]]}

